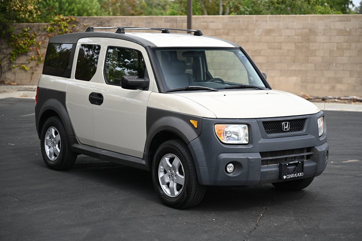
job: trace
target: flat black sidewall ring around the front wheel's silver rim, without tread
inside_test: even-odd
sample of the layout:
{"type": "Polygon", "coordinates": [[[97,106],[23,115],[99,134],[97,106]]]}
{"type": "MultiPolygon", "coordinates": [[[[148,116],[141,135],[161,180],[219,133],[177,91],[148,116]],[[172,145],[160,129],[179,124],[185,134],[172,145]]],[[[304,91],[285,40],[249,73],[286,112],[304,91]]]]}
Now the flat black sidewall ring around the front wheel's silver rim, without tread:
{"type": "Polygon", "coordinates": [[[185,154],[176,145],[172,143],[164,143],[159,147],[159,149],[157,149],[153,158],[152,181],[157,195],[166,205],[178,207],[181,206],[188,199],[191,191],[190,166],[187,162],[185,154]],[[185,182],[181,193],[177,197],[169,197],[167,194],[165,194],[159,181],[159,164],[161,162],[161,158],[163,158],[163,156],[166,154],[176,155],[177,158],[180,160],[182,167],[184,168],[185,182]]]}

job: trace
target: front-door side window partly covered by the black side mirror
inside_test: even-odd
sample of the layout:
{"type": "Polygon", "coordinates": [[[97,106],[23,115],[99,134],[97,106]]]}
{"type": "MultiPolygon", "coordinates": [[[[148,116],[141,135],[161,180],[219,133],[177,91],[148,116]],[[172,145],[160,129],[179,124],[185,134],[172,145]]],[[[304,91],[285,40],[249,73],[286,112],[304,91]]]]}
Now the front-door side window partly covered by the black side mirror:
{"type": "Polygon", "coordinates": [[[104,66],[106,82],[121,85],[125,75],[144,78],[146,65],[142,53],[127,48],[109,47],[104,66]]]}

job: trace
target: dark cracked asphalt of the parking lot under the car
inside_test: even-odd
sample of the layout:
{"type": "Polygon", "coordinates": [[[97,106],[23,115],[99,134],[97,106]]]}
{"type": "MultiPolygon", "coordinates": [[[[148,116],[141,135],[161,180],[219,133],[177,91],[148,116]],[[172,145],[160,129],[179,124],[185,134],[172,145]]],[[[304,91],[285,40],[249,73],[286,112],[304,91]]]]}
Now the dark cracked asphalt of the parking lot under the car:
{"type": "Polygon", "coordinates": [[[209,187],[188,210],[162,205],[148,172],[80,155],[43,163],[34,100],[0,100],[0,240],[361,240],[362,112],[325,112],[324,173],[301,191],[209,187]]]}

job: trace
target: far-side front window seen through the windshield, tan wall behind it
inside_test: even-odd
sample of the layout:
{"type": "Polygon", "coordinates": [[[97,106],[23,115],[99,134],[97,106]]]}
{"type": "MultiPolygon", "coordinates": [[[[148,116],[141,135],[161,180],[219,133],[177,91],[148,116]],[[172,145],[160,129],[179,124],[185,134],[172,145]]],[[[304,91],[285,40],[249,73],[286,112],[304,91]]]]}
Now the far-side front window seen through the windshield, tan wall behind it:
{"type": "Polygon", "coordinates": [[[248,72],[239,58],[231,51],[205,51],[207,69],[212,78],[225,82],[249,84],[248,72]]]}

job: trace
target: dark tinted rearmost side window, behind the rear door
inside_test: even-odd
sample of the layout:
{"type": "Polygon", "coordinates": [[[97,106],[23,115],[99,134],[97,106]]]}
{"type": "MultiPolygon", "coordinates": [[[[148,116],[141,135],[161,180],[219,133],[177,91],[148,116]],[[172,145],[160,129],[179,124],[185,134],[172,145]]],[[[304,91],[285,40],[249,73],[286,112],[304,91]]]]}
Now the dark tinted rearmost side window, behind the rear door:
{"type": "Polygon", "coordinates": [[[69,66],[72,44],[70,43],[49,43],[45,60],[43,74],[64,77],[69,66]]]}

